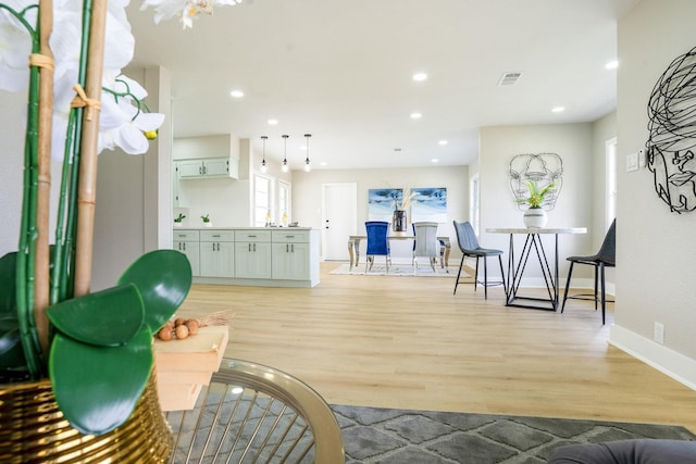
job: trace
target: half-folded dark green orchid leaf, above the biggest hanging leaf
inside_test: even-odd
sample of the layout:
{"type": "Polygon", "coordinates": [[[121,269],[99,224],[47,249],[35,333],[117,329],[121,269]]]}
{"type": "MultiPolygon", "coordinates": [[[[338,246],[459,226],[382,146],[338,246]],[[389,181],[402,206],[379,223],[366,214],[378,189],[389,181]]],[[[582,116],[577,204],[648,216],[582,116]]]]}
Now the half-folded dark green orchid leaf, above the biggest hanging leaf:
{"type": "Polygon", "coordinates": [[[57,303],[46,314],[58,330],[84,343],[115,347],[138,333],[145,317],[134,284],[57,303]]]}

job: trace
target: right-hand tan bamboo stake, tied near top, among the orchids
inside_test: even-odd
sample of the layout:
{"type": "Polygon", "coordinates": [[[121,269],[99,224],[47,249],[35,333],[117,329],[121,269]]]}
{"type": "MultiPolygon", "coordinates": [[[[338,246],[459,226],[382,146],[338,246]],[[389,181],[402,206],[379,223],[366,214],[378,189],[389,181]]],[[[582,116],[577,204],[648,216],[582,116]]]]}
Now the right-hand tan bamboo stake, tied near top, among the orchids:
{"type": "MultiPolygon", "coordinates": [[[[107,0],[92,3],[87,79],[87,99],[100,101],[101,75],[104,58],[104,30],[107,0]]],[[[97,200],[97,141],[99,136],[99,109],[88,106],[83,113],[80,140],[79,189],[77,193],[77,237],[75,248],[75,296],[89,293],[91,285],[95,205],[97,200]]]]}

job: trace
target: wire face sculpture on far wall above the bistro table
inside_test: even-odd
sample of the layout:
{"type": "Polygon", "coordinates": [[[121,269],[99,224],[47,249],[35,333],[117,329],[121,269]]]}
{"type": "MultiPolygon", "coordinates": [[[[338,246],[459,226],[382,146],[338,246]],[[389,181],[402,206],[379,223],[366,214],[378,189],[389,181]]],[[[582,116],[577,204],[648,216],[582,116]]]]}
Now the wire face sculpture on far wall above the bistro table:
{"type": "Polygon", "coordinates": [[[510,161],[510,189],[520,210],[530,208],[520,201],[530,196],[530,180],[534,180],[539,189],[556,183],[542,203],[544,210],[552,210],[563,187],[563,161],[556,153],[518,154],[510,161]]]}

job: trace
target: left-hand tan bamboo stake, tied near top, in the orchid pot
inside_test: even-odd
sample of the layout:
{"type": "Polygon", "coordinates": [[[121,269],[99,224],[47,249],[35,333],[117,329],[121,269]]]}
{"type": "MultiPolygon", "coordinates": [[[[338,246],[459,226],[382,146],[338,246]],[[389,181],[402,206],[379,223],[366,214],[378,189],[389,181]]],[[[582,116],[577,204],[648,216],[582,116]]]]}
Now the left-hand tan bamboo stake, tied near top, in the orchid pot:
{"type": "Polygon", "coordinates": [[[41,55],[50,65],[41,66],[39,83],[39,139],[38,139],[38,199],[37,199],[37,238],[35,256],[34,319],[44,353],[48,353],[49,305],[49,214],[51,195],[51,131],[53,120],[53,52],[49,37],[53,29],[53,2],[39,2],[39,42],[41,55]]]}

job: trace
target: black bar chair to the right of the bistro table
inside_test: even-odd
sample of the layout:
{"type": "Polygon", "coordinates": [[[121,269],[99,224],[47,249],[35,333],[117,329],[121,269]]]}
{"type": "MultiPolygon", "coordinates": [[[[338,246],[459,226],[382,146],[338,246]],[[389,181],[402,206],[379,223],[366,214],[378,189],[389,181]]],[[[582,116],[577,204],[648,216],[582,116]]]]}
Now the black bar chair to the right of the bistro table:
{"type": "Polygon", "coordinates": [[[566,280],[566,291],[563,292],[563,304],[561,304],[561,313],[566,309],[566,300],[594,300],[595,311],[597,311],[597,303],[601,302],[601,324],[606,322],[606,309],[607,302],[611,303],[613,300],[607,300],[606,281],[605,281],[605,267],[616,267],[617,264],[617,220],[614,218],[605,235],[605,239],[601,242],[599,251],[588,256],[569,256],[570,268],[568,269],[568,279],[566,280]],[[595,268],[595,291],[594,293],[574,293],[568,294],[570,287],[570,279],[573,275],[573,265],[587,264],[595,268]],[[597,293],[597,284],[601,285],[601,294],[597,293]]]}

